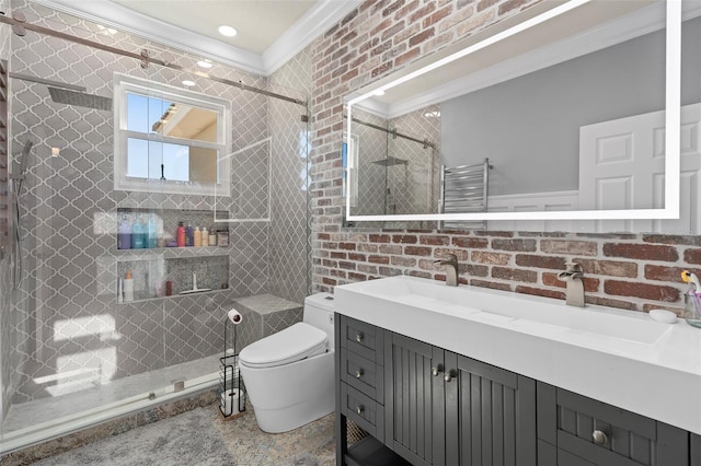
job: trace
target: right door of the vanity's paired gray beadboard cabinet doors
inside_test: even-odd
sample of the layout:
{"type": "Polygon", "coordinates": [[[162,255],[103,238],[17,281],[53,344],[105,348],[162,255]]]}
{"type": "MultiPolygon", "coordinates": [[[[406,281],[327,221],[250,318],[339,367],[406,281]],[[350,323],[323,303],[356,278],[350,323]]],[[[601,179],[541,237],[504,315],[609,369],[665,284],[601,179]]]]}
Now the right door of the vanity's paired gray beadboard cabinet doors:
{"type": "Polygon", "coordinates": [[[536,465],[536,381],[446,352],[447,463],[536,465]],[[448,381],[449,378],[449,381],[448,381]]]}

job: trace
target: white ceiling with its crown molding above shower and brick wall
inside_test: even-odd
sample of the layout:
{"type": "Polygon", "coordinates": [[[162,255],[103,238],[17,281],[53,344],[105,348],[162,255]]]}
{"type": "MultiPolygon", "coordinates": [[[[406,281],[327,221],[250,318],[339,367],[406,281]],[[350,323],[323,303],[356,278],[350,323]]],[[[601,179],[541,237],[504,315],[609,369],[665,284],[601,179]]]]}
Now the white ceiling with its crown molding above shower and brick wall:
{"type": "Polygon", "coordinates": [[[361,0],[36,0],[59,11],[268,75],[361,0]],[[220,35],[220,25],[238,30],[220,35]]]}

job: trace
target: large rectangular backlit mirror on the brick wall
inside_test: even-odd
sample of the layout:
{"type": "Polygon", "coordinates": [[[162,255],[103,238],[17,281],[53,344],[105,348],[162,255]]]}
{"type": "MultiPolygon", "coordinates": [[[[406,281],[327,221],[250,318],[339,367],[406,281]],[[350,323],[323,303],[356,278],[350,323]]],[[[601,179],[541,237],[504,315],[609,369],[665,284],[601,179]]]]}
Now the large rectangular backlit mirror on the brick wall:
{"type": "Polygon", "coordinates": [[[699,15],[541,2],[354,93],[347,220],[701,232],[699,15]]]}

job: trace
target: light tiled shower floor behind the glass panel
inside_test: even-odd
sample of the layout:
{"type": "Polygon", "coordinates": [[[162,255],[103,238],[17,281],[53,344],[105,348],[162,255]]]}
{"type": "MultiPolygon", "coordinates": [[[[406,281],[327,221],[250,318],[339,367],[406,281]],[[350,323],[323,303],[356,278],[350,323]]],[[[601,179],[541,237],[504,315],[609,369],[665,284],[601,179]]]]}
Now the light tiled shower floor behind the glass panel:
{"type": "Polygon", "coordinates": [[[220,354],[210,356],[182,364],[171,365],[142,374],[112,381],[110,384],[80,392],[39,398],[12,405],[2,423],[3,434],[36,426],[47,420],[104,407],[105,405],[158,391],[177,381],[192,381],[210,374],[218,376],[220,354]]]}

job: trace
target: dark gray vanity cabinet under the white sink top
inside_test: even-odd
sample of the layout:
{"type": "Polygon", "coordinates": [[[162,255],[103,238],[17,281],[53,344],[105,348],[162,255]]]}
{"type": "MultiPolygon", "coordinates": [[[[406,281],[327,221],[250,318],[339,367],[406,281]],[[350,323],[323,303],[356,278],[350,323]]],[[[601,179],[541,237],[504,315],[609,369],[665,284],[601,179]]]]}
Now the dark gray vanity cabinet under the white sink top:
{"type": "Polygon", "coordinates": [[[338,465],[701,466],[701,439],[686,430],[346,315],[335,322],[338,465]],[[347,420],[369,433],[349,447],[347,420]]]}

